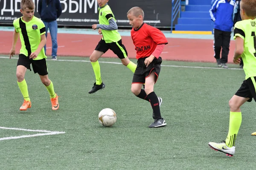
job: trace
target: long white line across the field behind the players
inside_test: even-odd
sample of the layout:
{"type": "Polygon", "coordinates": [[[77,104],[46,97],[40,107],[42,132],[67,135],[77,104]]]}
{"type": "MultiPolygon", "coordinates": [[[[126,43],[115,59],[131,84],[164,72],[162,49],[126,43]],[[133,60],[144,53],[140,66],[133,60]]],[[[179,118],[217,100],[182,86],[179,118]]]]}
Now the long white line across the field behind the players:
{"type": "MultiPolygon", "coordinates": [[[[2,57],[0,56],[0,58],[4,58],[4,59],[9,59],[9,57],[2,57]]],[[[12,59],[18,59],[17,57],[12,57],[12,59]]],[[[68,61],[68,62],[90,62],[87,60],[72,60],[72,59],[57,59],[57,60],[51,60],[51,59],[47,59],[48,61],[68,61]]],[[[100,63],[108,63],[108,64],[122,64],[121,62],[105,62],[105,61],[101,61],[100,63]]],[[[204,69],[224,69],[224,68],[218,68],[218,67],[197,67],[197,66],[183,66],[183,65],[161,65],[162,67],[178,67],[178,68],[204,68],[204,69]]],[[[242,70],[241,68],[225,68],[224,70],[242,70]]]]}

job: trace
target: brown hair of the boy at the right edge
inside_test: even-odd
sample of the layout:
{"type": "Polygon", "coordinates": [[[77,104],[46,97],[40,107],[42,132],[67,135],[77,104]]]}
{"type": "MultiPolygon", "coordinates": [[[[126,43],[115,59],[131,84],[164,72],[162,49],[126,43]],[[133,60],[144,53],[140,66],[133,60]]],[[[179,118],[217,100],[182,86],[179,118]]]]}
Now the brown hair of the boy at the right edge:
{"type": "Polygon", "coordinates": [[[241,9],[248,17],[256,17],[256,0],[241,0],[241,9]]]}

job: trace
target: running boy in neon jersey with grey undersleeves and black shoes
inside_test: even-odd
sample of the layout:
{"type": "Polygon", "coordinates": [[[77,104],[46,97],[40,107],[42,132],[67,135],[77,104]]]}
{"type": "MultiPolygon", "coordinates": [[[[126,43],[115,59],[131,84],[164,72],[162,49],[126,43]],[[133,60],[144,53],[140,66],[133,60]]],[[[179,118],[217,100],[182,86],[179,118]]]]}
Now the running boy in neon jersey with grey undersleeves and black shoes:
{"type": "Polygon", "coordinates": [[[112,50],[121,59],[122,64],[129,68],[133,73],[137,67],[127,57],[127,51],[122,44],[122,39],[117,31],[116,19],[108,6],[108,0],[97,0],[99,5],[99,24],[94,24],[92,28],[99,28],[99,34],[102,34],[102,39],[99,41],[95,50],[90,56],[90,62],[93,66],[93,71],[96,77],[96,82],[93,88],[88,92],[95,93],[98,90],[105,88],[100,74],[100,66],[98,59],[109,49],[112,50]]]}

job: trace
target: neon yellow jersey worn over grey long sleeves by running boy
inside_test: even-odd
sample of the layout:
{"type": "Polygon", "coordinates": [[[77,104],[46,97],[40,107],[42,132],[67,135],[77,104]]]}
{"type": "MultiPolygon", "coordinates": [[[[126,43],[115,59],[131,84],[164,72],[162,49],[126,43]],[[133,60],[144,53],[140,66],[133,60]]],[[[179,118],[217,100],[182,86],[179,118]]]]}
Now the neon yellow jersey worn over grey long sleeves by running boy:
{"type": "MultiPolygon", "coordinates": [[[[116,21],[114,14],[111,11],[111,8],[108,5],[104,6],[103,8],[99,8],[99,24],[109,25],[108,21],[110,19],[114,19],[116,21]]],[[[117,30],[102,29],[102,35],[102,40],[105,40],[106,43],[118,42],[119,40],[121,40],[121,36],[117,30]]]]}

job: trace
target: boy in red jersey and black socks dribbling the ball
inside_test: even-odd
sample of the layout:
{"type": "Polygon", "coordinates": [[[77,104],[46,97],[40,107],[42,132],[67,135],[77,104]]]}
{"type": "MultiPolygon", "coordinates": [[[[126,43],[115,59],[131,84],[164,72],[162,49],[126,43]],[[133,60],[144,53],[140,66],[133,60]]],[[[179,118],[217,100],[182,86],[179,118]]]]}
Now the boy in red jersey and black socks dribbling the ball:
{"type": "Polygon", "coordinates": [[[134,72],[131,91],[137,97],[150,102],[153,109],[154,122],[149,127],[162,127],[166,121],[161,117],[160,105],[162,99],[154,92],[161,69],[162,58],[159,57],[164,45],[168,42],[164,34],[157,28],[143,23],[144,12],[139,7],[133,7],[127,12],[131,30],[131,38],[137,51],[137,68],[134,72]],[[141,89],[145,83],[145,90],[141,89]]]}

